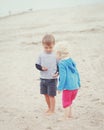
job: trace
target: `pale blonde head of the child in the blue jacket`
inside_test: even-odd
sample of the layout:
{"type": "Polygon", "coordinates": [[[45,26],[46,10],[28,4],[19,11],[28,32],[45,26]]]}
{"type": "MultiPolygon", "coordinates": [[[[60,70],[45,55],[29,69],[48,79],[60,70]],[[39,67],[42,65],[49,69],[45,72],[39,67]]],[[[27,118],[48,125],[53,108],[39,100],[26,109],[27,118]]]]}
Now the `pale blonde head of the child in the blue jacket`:
{"type": "Polygon", "coordinates": [[[69,44],[67,41],[62,41],[56,44],[55,51],[60,55],[61,59],[70,57],[69,44]]]}

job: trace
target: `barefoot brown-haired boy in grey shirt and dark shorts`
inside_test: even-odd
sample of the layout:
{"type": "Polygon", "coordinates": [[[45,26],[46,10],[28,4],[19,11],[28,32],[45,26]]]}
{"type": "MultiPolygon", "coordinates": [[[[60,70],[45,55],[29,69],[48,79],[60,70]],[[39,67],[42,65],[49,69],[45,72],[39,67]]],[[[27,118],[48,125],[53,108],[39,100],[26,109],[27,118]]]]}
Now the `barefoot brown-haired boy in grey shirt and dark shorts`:
{"type": "Polygon", "coordinates": [[[40,70],[40,93],[44,94],[48,105],[47,115],[55,112],[55,96],[57,87],[57,59],[53,52],[55,38],[45,35],[42,39],[43,53],[40,54],[36,68],[40,70]]]}

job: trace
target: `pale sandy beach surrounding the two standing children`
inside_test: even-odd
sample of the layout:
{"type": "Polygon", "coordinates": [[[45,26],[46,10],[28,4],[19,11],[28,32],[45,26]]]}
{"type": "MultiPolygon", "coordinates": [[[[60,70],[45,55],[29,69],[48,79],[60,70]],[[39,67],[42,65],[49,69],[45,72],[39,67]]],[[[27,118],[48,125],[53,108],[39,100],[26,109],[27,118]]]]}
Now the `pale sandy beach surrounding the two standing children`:
{"type": "Polygon", "coordinates": [[[104,129],[104,4],[38,10],[0,18],[0,130],[104,129]],[[45,116],[34,64],[41,39],[52,33],[68,41],[77,62],[81,89],[74,118],[63,115],[61,95],[56,114],[45,116]]]}

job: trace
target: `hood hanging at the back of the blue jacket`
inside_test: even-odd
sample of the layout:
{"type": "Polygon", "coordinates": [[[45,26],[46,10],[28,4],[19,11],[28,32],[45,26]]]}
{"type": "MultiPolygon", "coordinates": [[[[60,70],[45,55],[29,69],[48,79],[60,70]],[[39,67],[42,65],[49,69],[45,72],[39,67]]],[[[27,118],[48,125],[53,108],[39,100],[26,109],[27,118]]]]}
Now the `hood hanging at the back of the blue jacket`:
{"type": "Polygon", "coordinates": [[[76,63],[71,58],[62,60],[62,63],[64,66],[68,66],[72,73],[76,72],[76,63]]]}

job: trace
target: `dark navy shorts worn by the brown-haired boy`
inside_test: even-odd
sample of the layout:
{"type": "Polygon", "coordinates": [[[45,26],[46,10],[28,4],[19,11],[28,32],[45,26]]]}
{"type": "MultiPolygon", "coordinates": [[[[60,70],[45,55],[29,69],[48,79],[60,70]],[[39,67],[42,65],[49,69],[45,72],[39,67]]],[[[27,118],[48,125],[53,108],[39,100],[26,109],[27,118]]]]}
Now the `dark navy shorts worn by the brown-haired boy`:
{"type": "Polygon", "coordinates": [[[40,79],[40,93],[56,96],[57,79],[40,79]]]}

